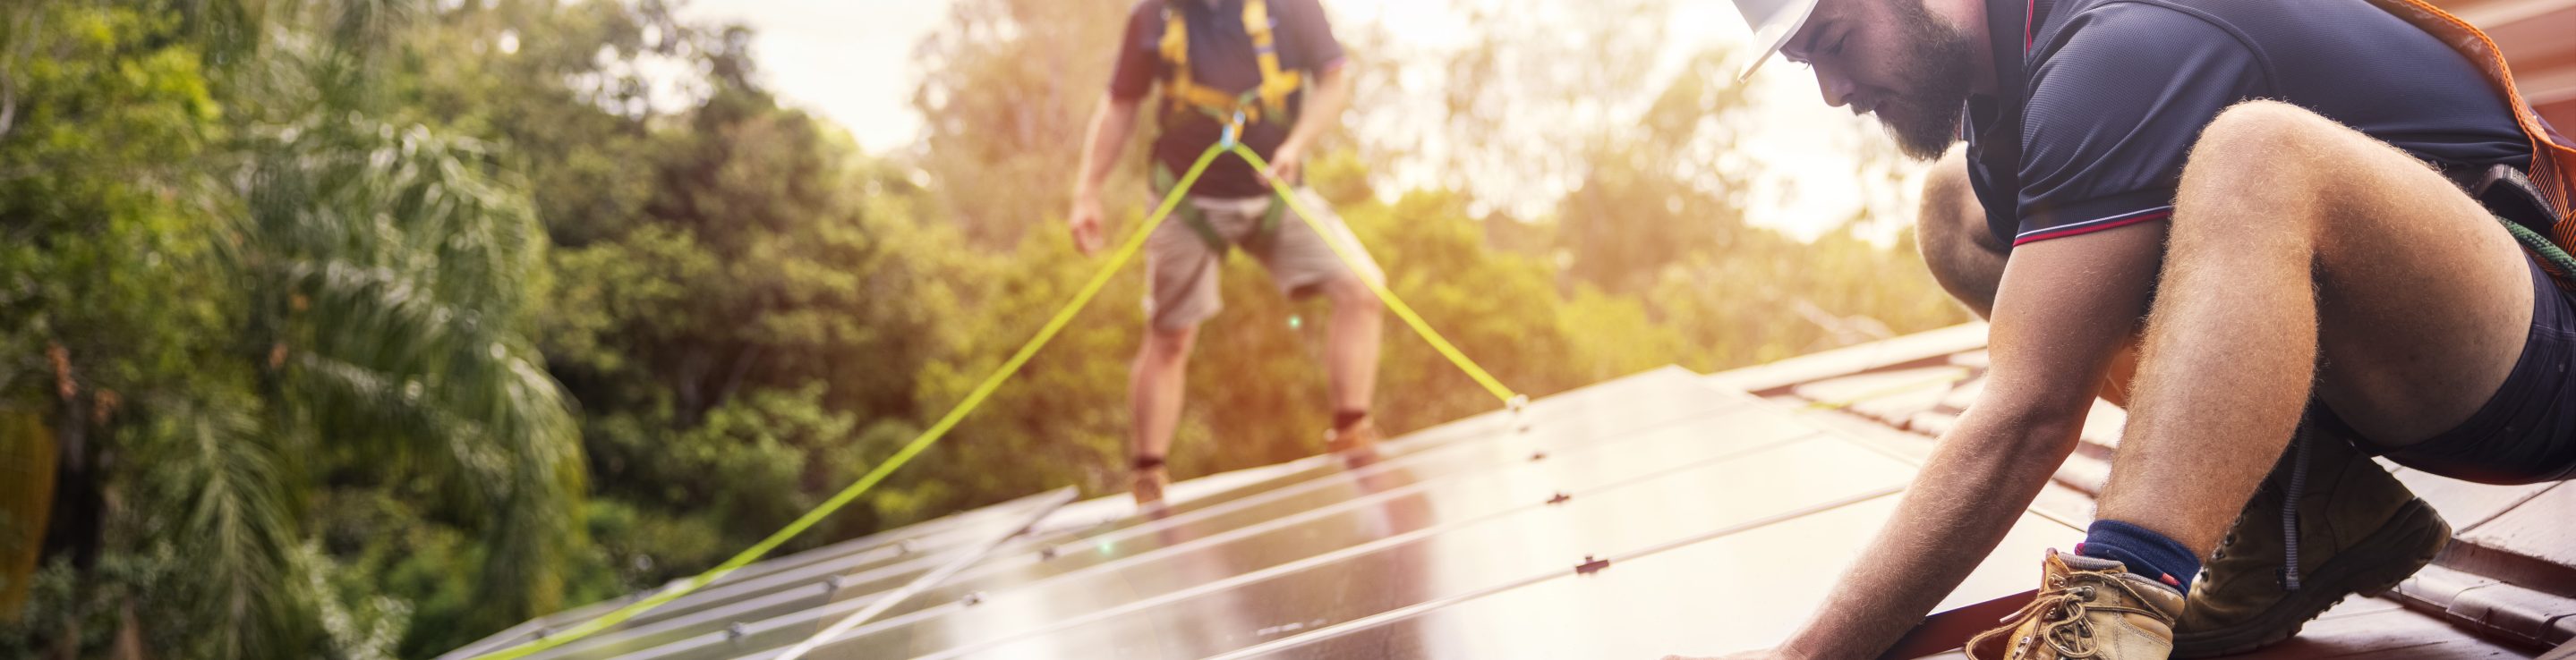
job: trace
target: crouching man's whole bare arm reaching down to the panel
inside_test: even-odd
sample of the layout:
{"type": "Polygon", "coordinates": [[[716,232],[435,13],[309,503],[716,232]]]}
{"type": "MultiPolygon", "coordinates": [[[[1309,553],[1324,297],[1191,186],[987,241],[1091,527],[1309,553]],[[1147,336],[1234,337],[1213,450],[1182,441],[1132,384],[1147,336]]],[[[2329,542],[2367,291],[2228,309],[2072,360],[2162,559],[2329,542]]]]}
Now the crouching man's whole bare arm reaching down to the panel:
{"type": "Polygon", "coordinates": [[[1986,389],[1788,657],[1875,657],[1976,570],[2066,461],[2143,322],[2164,222],[2030,242],[2004,266],[1986,389]]]}

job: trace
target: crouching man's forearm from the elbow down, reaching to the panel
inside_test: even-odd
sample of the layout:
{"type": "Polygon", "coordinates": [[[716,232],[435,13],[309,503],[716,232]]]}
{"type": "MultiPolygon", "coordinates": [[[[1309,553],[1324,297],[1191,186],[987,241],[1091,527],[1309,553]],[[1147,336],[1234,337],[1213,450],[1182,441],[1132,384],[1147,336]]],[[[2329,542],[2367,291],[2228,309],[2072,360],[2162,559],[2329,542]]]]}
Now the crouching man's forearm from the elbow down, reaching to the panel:
{"type": "Polygon", "coordinates": [[[1806,657],[1875,657],[1976,570],[2074,451],[2076,418],[2007,410],[1953,428],[1914,477],[1896,516],[1842,575],[1824,608],[1785,650],[1806,657]]]}

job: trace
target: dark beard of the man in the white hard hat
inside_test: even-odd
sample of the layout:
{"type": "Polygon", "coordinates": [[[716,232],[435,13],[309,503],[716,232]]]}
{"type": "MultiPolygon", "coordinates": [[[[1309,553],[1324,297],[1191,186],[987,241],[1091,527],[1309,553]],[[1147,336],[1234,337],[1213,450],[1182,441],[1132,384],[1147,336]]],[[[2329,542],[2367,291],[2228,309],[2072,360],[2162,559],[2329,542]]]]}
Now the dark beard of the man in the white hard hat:
{"type": "Polygon", "coordinates": [[[1976,64],[1973,36],[1942,23],[1922,0],[1893,0],[1896,21],[1906,26],[1911,64],[1899,80],[1914,88],[1886,98],[1870,113],[1896,137],[1896,150],[1917,160],[1937,160],[1958,142],[1958,119],[1968,106],[1976,64]]]}

